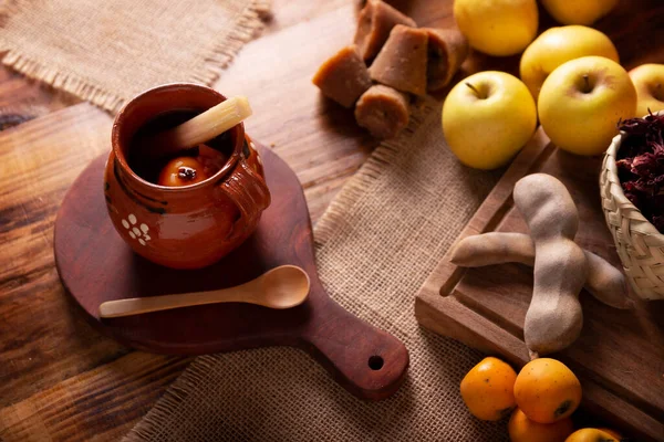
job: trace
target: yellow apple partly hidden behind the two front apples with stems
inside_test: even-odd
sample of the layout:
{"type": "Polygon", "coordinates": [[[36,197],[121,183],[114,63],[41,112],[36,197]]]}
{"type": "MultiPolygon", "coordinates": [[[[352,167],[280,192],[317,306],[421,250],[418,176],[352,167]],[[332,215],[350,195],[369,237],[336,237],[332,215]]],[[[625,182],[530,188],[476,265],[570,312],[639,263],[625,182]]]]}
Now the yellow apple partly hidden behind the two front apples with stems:
{"type": "Polygon", "coordinates": [[[542,83],[556,67],[587,55],[605,56],[620,63],[611,40],[595,29],[578,24],[548,29],[523,52],[519,66],[521,80],[537,99],[542,83]]]}

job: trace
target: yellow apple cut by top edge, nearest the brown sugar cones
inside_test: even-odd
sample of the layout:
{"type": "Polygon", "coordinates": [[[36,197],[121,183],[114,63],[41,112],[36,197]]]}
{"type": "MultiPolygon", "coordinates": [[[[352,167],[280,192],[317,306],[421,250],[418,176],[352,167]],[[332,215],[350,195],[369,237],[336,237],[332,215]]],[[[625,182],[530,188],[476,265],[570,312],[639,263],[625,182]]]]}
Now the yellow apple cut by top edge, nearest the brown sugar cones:
{"type": "Polygon", "coordinates": [[[476,50],[489,55],[513,55],[537,35],[535,0],[455,0],[454,18],[476,50]]]}

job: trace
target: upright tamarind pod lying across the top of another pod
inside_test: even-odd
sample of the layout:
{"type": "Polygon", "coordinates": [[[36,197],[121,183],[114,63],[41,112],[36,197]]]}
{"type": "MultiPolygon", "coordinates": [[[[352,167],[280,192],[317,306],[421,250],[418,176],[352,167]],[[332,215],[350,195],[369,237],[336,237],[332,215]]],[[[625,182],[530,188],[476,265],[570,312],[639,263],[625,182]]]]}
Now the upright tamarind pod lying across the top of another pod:
{"type": "Polygon", "coordinates": [[[546,173],[521,178],[513,200],[535,242],[526,346],[533,356],[559,351],[572,345],[583,327],[579,292],[588,278],[588,261],[573,241],[579,212],[564,185],[546,173]]]}

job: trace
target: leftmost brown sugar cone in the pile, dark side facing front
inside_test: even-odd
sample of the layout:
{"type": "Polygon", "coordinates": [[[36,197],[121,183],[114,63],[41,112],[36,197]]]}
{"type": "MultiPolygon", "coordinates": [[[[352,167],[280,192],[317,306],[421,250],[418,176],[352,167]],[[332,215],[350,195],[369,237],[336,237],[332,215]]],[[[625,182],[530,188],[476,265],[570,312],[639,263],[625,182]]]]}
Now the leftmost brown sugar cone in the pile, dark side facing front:
{"type": "Polygon", "coordinates": [[[312,82],[326,97],[349,108],[372,85],[366,65],[354,44],[343,48],[325,61],[312,82]]]}

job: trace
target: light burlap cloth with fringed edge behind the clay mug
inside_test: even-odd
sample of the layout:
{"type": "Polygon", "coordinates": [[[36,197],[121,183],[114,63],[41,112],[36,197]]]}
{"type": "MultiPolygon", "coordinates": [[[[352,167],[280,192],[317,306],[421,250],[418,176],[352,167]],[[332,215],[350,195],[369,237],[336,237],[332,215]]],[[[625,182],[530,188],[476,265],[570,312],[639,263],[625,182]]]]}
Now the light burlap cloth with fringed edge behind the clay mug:
{"type": "Polygon", "coordinates": [[[112,113],[172,82],[210,85],[270,0],[0,0],[2,63],[112,113]]]}

